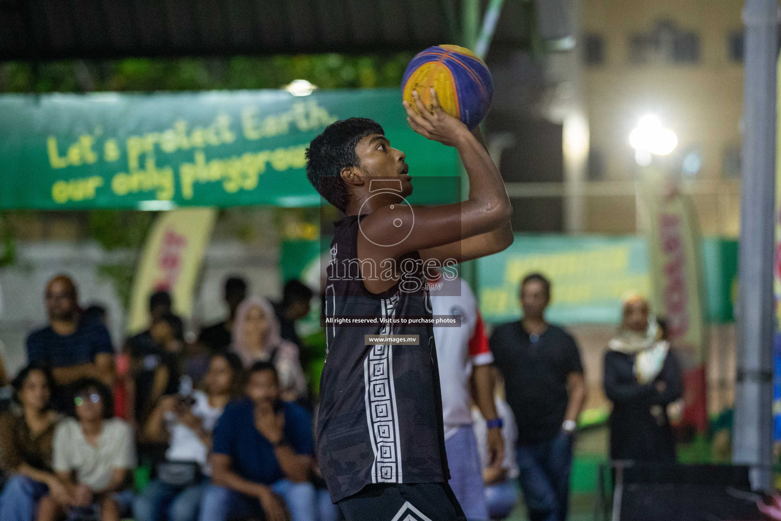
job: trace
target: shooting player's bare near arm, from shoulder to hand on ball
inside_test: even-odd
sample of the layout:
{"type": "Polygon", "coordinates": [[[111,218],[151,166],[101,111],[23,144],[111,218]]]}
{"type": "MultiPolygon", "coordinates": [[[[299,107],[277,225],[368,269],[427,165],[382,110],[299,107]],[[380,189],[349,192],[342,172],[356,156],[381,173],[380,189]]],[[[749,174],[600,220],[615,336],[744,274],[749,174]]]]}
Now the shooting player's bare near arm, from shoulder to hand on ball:
{"type": "Polygon", "coordinates": [[[464,123],[441,109],[436,92],[432,99],[429,110],[415,95],[417,113],[405,103],[408,122],[424,137],[458,150],[469,175],[469,199],[454,205],[408,209],[391,204],[373,209],[362,221],[364,233],[358,237],[358,255],[364,259],[398,259],[408,252],[492,232],[508,223],[512,207],[487,150],[464,123]],[[383,237],[383,241],[371,237],[383,237]]]}

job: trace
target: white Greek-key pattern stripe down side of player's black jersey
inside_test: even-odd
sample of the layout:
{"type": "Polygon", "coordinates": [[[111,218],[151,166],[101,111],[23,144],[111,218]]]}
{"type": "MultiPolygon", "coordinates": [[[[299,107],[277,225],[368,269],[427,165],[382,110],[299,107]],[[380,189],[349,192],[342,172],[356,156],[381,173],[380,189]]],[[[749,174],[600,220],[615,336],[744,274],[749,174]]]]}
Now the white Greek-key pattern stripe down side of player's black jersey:
{"type": "MultiPolygon", "coordinates": [[[[383,317],[393,316],[398,297],[383,298],[383,317]]],[[[383,325],[380,334],[393,334],[391,324],[383,325]]],[[[402,483],[401,442],[398,433],[398,410],[393,381],[391,345],[373,345],[363,361],[366,385],[366,420],[374,451],[372,483],[402,483]]]]}

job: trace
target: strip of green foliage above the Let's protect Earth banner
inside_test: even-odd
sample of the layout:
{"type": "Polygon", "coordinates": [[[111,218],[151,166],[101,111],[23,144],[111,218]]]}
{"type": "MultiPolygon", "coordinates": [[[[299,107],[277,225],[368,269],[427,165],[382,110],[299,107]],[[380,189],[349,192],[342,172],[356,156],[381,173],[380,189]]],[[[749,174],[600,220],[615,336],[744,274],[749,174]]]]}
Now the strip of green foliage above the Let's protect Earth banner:
{"type": "Polygon", "coordinates": [[[0,91],[205,91],[280,88],[309,80],[320,88],[397,87],[412,53],[352,56],[234,56],[0,64],[0,91]]]}

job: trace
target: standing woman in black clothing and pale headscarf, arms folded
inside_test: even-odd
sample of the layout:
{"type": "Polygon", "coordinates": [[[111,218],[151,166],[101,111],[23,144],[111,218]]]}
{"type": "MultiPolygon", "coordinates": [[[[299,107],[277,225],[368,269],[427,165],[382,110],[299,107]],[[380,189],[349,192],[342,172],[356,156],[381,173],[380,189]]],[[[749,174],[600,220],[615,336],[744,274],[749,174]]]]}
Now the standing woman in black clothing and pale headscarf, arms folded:
{"type": "Polygon", "coordinates": [[[621,327],[604,355],[604,392],[613,402],[611,459],[676,461],[667,406],[681,397],[682,387],[676,356],[648,301],[626,298],[621,327]]]}

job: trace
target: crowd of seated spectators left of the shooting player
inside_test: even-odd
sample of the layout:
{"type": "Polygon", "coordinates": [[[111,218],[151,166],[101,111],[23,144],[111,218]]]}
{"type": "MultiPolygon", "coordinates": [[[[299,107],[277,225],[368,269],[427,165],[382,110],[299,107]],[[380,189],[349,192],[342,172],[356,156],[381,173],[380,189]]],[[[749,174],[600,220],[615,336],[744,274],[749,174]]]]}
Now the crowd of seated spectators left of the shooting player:
{"type": "Polygon", "coordinates": [[[226,319],[188,343],[157,291],[148,328],[115,351],[105,309],[81,309],[70,277],[50,280],[48,323],[0,415],[0,519],[338,519],[294,327],[312,291],[288,283],[274,305],[230,277],[224,298],[226,319]]]}

